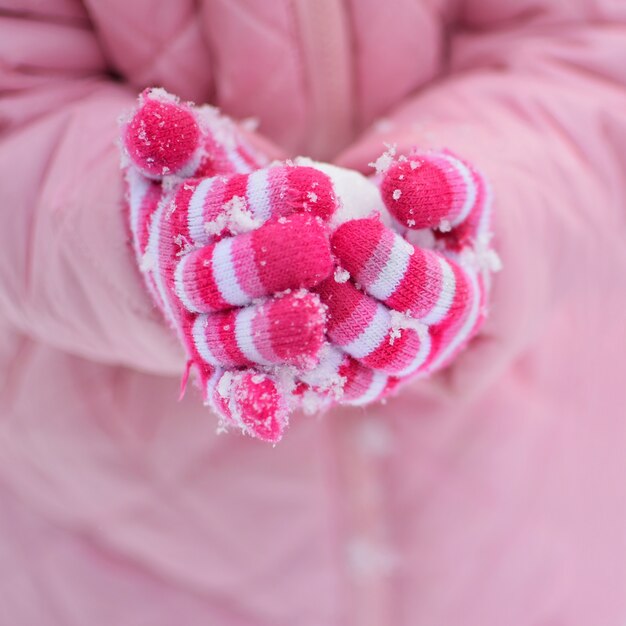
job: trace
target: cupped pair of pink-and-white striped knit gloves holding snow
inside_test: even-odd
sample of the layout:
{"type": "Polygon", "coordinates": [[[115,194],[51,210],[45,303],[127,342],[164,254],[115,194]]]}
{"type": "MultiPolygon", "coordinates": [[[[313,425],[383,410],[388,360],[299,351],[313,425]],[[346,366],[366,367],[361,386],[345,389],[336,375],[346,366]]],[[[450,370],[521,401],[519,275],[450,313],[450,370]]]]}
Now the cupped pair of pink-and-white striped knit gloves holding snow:
{"type": "Polygon", "coordinates": [[[448,153],[361,174],[268,163],[215,109],[149,90],[123,123],[139,267],[223,427],[363,405],[450,362],[486,314],[490,202],[448,153]]]}

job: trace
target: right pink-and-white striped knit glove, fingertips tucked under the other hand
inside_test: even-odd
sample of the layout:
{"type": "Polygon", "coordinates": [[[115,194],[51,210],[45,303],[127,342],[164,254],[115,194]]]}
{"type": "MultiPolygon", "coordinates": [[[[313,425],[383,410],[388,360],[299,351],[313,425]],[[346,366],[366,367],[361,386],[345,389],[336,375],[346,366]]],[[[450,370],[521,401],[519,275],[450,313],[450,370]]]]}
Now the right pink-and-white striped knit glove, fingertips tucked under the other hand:
{"type": "Polygon", "coordinates": [[[481,176],[452,154],[392,152],[374,165],[393,228],[375,218],[343,224],[331,244],[351,281],[326,280],[320,293],[331,341],[407,379],[445,366],[475,335],[498,260],[481,176]]]}

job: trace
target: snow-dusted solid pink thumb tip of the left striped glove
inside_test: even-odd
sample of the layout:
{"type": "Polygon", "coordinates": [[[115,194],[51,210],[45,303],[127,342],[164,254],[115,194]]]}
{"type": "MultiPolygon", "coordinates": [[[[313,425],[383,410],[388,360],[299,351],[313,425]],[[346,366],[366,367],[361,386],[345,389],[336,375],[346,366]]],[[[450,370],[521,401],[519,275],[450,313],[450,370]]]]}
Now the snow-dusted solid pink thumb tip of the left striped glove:
{"type": "Polygon", "coordinates": [[[196,119],[186,105],[147,90],[124,132],[133,164],[146,176],[174,174],[192,159],[200,140],[196,119]]]}

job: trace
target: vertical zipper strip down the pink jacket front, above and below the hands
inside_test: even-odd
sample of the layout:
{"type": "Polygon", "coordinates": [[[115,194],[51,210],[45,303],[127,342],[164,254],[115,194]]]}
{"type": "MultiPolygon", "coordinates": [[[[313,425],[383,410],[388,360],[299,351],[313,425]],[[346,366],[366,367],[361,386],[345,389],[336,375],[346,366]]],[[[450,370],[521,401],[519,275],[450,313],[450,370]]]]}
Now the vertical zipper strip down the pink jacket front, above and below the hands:
{"type": "MultiPolygon", "coordinates": [[[[328,160],[353,139],[354,59],[346,0],[292,0],[310,96],[310,154],[328,160]]],[[[328,419],[328,418],[327,418],[328,419]]],[[[336,463],[351,626],[387,626],[391,616],[384,455],[364,445],[371,418],[336,415],[336,463]],[[366,421],[367,420],[367,421],[366,421]]],[[[340,549],[342,549],[340,547],[340,549]]]]}

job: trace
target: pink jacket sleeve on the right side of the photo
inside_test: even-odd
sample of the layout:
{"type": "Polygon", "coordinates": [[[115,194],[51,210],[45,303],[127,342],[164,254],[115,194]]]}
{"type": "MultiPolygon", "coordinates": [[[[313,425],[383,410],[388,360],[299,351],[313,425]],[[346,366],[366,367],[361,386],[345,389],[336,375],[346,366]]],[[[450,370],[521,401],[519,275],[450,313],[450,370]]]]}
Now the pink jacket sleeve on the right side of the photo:
{"type": "MultiPolygon", "coordinates": [[[[599,298],[610,308],[624,297],[626,6],[462,5],[449,25],[447,76],[338,160],[366,171],[383,141],[401,151],[445,147],[491,180],[504,269],[482,336],[437,381],[477,392],[557,307],[599,298]]],[[[575,332],[592,342],[598,330],[575,332]]]]}

